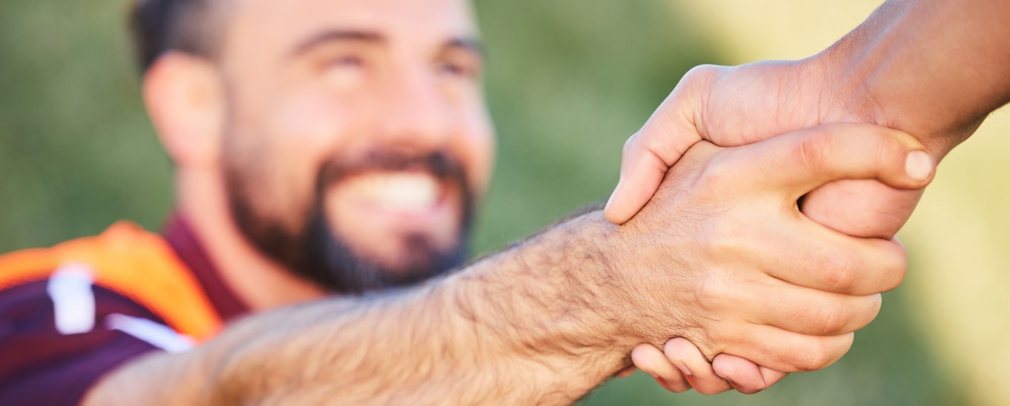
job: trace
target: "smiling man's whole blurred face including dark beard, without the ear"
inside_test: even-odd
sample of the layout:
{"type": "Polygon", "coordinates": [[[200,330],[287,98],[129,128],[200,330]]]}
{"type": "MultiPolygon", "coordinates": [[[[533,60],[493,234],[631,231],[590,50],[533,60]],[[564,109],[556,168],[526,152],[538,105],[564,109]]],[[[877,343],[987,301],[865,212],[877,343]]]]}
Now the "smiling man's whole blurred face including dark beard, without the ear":
{"type": "Polygon", "coordinates": [[[233,219],[337,292],[459,265],[493,134],[466,0],[237,0],[220,69],[233,219]]]}

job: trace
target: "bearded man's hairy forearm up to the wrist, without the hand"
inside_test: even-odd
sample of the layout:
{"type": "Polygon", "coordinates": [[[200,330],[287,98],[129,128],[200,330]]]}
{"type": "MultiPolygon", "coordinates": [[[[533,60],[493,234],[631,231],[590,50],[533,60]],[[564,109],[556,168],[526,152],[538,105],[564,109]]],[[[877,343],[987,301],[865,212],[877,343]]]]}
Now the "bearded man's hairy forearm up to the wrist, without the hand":
{"type": "Polygon", "coordinates": [[[611,230],[591,213],[421,287],[251,316],[116,372],[91,401],[571,403],[637,342],[601,305],[611,230]]]}

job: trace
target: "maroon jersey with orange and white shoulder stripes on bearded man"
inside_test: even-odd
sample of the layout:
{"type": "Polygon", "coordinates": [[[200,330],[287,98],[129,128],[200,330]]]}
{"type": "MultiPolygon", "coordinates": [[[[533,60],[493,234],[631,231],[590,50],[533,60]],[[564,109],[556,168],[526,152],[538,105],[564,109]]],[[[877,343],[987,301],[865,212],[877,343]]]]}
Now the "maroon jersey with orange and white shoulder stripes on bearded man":
{"type": "Polygon", "coordinates": [[[187,224],[117,223],[96,237],[0,257],[0,405],[74,405],[106,373],[185,351],[248,307],[187,224]]]}

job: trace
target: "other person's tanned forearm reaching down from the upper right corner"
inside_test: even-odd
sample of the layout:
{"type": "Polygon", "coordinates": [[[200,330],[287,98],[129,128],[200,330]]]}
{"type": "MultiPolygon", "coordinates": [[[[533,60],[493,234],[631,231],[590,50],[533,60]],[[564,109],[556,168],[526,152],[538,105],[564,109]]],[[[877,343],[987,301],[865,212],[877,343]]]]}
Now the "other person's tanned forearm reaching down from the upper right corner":
{"type": "Polygon", "coordinates": [[[1010,102],[1010,2],[890,0],[818,58],[842,96],[942,157],[1010,102]]]}

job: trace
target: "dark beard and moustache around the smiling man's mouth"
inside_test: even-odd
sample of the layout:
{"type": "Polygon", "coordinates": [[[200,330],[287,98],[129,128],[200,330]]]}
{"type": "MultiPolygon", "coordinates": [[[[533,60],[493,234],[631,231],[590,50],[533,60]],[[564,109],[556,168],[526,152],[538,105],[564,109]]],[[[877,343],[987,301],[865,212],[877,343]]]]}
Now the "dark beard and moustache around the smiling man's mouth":
{"type": "MultiPolygon", "coordinates": [[[[226,155],[227,156],[227,155],[226,155]]],[[[246,157],[248,158],[248,157],[246,157]]],[[[467,258],[473,216],[473,196],[466,173],[448,155],[435,151],[409,155],[396,150],[377,150],[357,161],[331,159],[317,171],[313,196],[307,196],[307,208],[300,213],[297,231],[291,231],[279,218],[257,210],[256,179],[263,168],[245,170],[247,165],[268,160],[229,160],[225,165],[225,185],[232,220],[243,236],[271,260],[319,287],[338,294],[362,294],[420,283],[461,266],[467,258]],[[460,229],[449,248],[438,247],[431,236],[410,232],[402,236],[403,256],[408,260],[398,267],[356,252],[342,239],[324,209],[325,191],[346,177],[372,171],[426,171],[461,191],[460,229]]],[[[290,222],[287,222],[290,224],[290,222]]]]}

